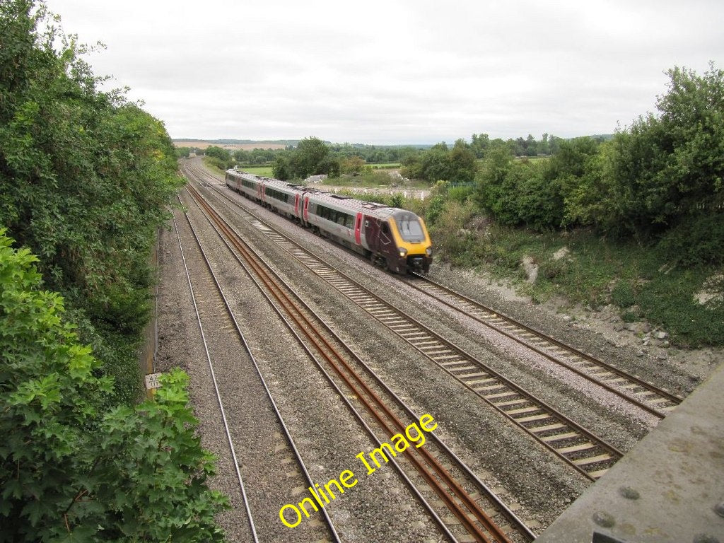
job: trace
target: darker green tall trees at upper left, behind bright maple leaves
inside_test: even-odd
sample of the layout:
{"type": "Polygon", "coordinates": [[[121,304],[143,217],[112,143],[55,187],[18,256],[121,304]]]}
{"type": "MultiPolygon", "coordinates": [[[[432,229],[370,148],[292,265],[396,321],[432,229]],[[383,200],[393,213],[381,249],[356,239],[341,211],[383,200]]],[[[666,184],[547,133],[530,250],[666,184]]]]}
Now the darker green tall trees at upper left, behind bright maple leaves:
{"type": "Polygon", "coordinates": [[[42,28],[48,17],[33,1],[1,4],[0,218],[83,323],[101,371],[135,376],[117,391],[132,401],[148,253],[180,186],[176,155],[159,120],[97,89],[87,49],[42,28]]]}

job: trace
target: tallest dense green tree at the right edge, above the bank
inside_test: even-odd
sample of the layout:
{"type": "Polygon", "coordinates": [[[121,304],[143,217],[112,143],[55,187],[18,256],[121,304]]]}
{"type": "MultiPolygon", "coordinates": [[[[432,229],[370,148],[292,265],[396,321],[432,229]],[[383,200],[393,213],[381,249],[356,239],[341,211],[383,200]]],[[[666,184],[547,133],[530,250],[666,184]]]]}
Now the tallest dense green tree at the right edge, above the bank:
{"type": "Polygon", "coordinates": [[[724,205],[724,72],[712,64],[701,77],[681,68],[668,75],[658,116],[639,117],[601,146],[599,157],[581,161],[584,174],[571,190],[568,217],[640,239],[677,237],[676,231],[683,239],[688,232],[698,241],[686,261],[720,262],[724,242],[704,243],[696,225],[724,205]]]}

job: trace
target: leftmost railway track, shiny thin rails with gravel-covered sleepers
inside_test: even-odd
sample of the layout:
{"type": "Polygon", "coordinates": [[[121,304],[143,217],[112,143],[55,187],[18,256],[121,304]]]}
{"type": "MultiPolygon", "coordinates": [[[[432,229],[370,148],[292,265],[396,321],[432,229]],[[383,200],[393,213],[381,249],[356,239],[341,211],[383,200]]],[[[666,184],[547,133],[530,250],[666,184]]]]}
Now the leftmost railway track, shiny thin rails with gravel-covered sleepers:
{"type": "MultiPolygon", "coordinates": [[[[256,382],[251,382],[251,379],[241,376],[239,379],[243,379],[246,392],[256,391],[254,397],[258,403],[268,404],[269,409],[265,410],[262,407],[258,409],[256,413],[273,413],[271,417],[264,421],[254,421],[253,426],[261,426],[269,430],[275,429],[277,430],[277,434],[282,435],[286,442],[283,446],[277,447],[278,450],[275,451],[274,455],[265,459],[264,469],[266,470],[266,478],[271,479],[274,476],[277,476],[277,473],[287,473],[287,477],[292,478],[292,480],[288,481],[289,484],[295,486],[300,484],[313,486],[314,482],[306,468],[297,446],[295,445],[294,439],[292,438],[292,435],[282,418],[282,414],[279,412],[279,408],[277,408],[277,403],[271,395],[269,386],[266,384],[266,380],[261,374],[258,364],[256,363],[256,359],[245,340],[244,334],[234,316],[227,297],[224,295],[219,279],[214,273],[211,262],[209,261],[208,256],[206,256],[206,253],[203,251],[201,241],[199,240],[198,234],[193,227],[188,214],[185,214],[185,218],[190,230],[190,235],[195,240],[196,251],[184,251],[181,235],[179,233],[180,229],[175,219],[174,232],[176,233],[186,279],[188,281],[188,287],[195,312],[195,319],[201,332],[203,349],[206,355],[206,361],[209,365],[209,373],[211,375],[211,381],[216,394],[216,402],[219,405],[219,412],[222,418],[225,437],[234,463],[235,478],[240,487],[240,492],[243,498],[245,515],[248,520],[248,540],[258,543],[260,540],[266,540],[269,534],[264,531],[264,533],[260,536],[258,526],[254,521],[254,514],[250,504],[251,500],[248,497],[248,492],[246,492],[242,476],[242,468],[240,468],[240,466],[247,463],[243,458],[240,458],[240,456],[237,455],[235,441],[238,442],[239,437],[235,438],[233,436],[232,429],[230,429],[230,424],[227,420],[227,408],[224,407],[225,402],[222,397],[222,387],[219,385],[219,380],[216,379],[215,366],[217,363],[223,363],[221,359],[228,358],[228,353],[233,353],[233,363],[236,366],[245,364],[247,367],[253,367],[253,373],[258,378],[256,382]],[[191,269],[193,269],[193,272],[191,269]],[[203,295],[201,295],[201,292],[203,292],[203,295]],[[211,321],[213,324],[210,325],[208,321],[211,321]],[[209,340],[209,335],[206,331],[209,331],[210,329],[222,329],[224,331],[222,345],[218,345],[218,339],[216,342],[214,342],[214,340],[209,340]],[[292,463],[295,463],[300,468],[303,476],[296,471],[290,471],[290,465],[292,463]],[[274,471],[274,468],[276,468],[276,471],[274,471]]],[[[255,439],[253,437],[249,437],[249,441],[254,442],[255,439]]],[[[247,469],[249,471],[253,471],[251,468],[247,469]]],[[[255,473],[255,475],[261,477],[265,476],[264,473],[255,473]]],[[[269,509],[266,505],[260,505],[260,508],[265,512],[269,509]]],[[[323,523],[319,523],[319,525],[314,526],[306,526],[303,529],[303,534],[298,535],[305,536],[305,540],[308,541],[333,541],[340,543],[340,536],[337,534],[337,530],[334,528],[334,524],[329,518],[329,515],[327,515],[326,511],[323,511],[323,518],[323,523]]]]}

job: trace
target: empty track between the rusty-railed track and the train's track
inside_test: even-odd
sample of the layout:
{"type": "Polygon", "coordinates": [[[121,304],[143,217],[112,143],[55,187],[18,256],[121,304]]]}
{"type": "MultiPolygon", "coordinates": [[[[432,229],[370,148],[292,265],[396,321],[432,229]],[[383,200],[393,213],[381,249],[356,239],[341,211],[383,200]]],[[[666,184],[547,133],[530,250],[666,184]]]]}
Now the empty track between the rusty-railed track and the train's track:
{"type": "MultiPolygon", "coordinates": [[[[223,193],[222,193],[223,195],[223,193]]],[[[230,198],[230,202],[235,203],[230,198]]],[[[235,203],[238,206],[238,204],[235,203]]],[[[241,208],[243,209],[243,208],[241,208]]],[[[623,456],[584,426],[518,386],[462,348],[274,230],[250,211],[253,224],[342,295],[434,362],[477,397],[546,447],[578,473],[595,481],[623,456]]]]}

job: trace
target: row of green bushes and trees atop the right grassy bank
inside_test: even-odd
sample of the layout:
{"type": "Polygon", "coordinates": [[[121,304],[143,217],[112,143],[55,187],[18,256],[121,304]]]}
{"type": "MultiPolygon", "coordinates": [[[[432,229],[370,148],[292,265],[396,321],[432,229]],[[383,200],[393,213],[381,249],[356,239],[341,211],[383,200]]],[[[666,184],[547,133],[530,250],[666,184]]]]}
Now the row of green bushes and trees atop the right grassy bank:
{"type": "Polygon", "coordinates": [[[610,140],[561,141],[547,161],[489,153],[474,198],[504,224],[662,237],[683,263],[723,261],[724,72],[668,75],[659,113],[610,140]]]}

